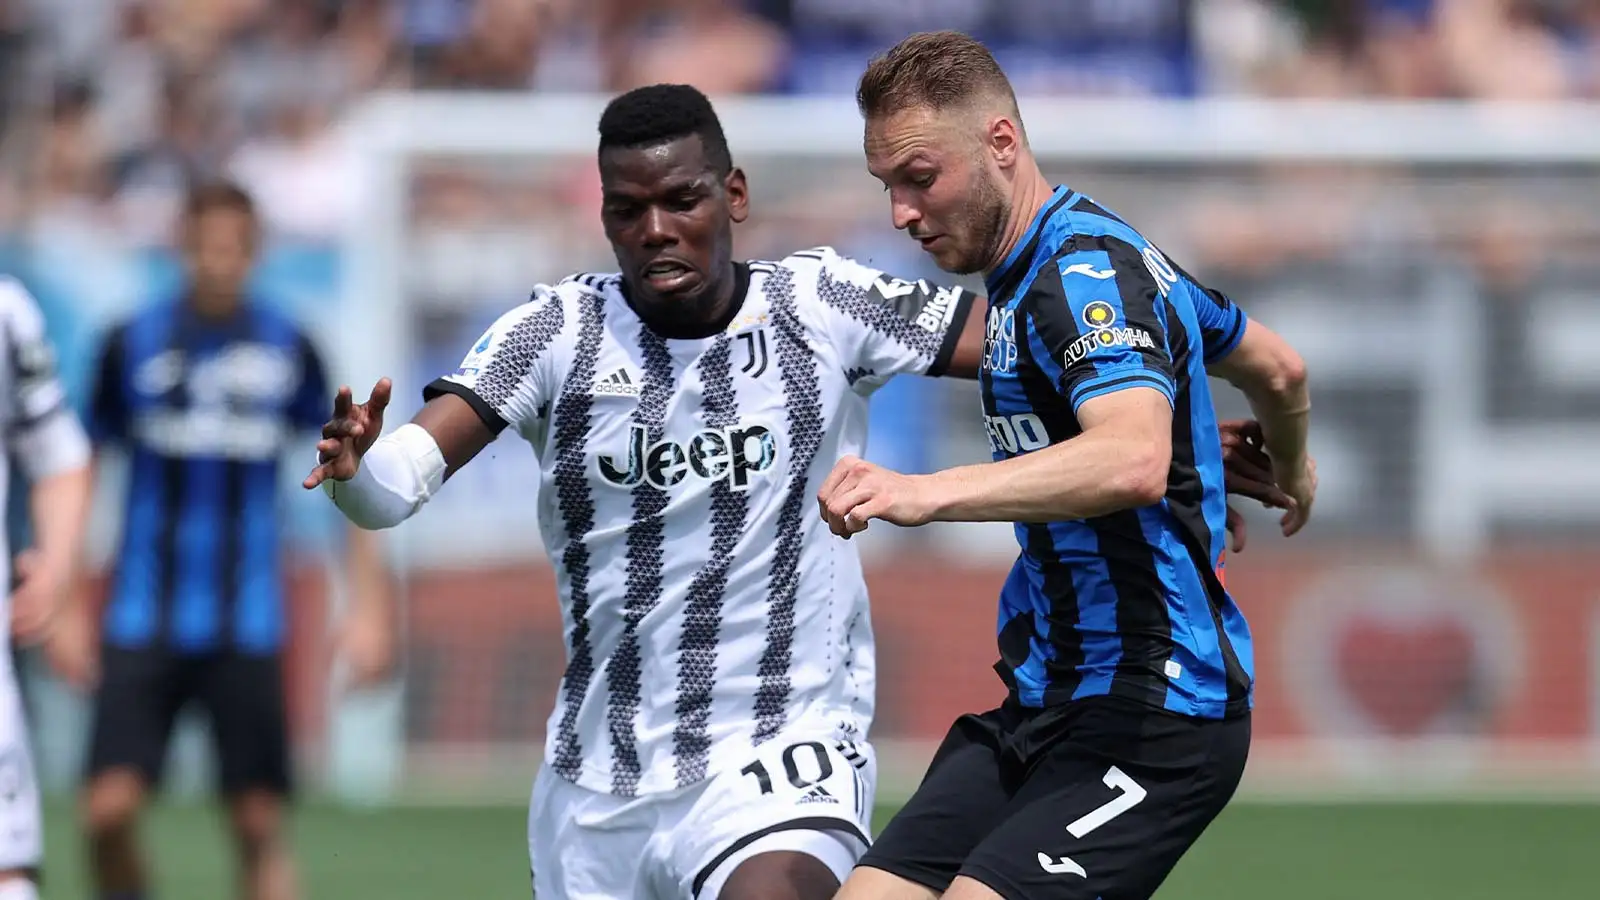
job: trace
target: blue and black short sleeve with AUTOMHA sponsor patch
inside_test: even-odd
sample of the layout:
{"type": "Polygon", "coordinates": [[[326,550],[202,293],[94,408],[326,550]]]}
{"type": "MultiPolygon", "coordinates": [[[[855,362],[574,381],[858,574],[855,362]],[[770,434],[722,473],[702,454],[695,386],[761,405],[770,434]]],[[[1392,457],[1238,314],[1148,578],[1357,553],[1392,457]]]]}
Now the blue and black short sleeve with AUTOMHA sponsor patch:
{"type": "Polygon", "coordinates": [[[1114,237],[1080,240],[1078,247],[1040,272],[1027,291],[1035,360],[1074,412],[1085,400],[1126,388],[1154,388],[1173,402],[1165,306],[1176,274],[1168,279],[1165,263],[1114,237]]]}

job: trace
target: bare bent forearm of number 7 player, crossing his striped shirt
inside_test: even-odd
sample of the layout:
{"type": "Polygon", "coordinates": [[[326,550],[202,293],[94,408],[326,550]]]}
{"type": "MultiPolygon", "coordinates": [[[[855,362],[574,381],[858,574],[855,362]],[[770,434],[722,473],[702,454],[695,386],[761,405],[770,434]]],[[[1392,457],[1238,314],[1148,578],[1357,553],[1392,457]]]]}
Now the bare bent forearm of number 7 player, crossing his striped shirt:
{"type": "Polygon", "coordinates": [[[1147,439],[1088,431],[1034,453],[946,469],[930,479],[941,522],[1062,522],[1157,503],[1171,452],[1147,439]]]}

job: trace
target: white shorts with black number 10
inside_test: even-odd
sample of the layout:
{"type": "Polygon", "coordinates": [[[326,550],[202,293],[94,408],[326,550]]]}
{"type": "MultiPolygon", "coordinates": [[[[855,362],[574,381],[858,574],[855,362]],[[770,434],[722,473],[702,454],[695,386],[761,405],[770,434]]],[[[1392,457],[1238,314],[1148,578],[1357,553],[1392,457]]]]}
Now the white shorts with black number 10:
{"type": "Polygon", "coordinates": [[[795,727],[749,764],[678,791],[618,798],[539,770],[528,809],[538,900],[715,900],[744,860],[792,850],[840,882],[866,852],[877,793],[872,745],[795,727]]]}

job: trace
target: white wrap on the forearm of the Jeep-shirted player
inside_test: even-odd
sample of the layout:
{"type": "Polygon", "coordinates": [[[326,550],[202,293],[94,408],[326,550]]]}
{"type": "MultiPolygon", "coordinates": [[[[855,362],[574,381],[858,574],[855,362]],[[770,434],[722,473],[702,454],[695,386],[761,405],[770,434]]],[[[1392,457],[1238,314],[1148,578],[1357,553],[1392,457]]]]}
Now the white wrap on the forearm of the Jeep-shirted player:
{"type": "Polygon", "coordinates": [[[445,484],[445,456],[434,436],[406,423],[373,442],[350,480],[322,482],[344,517],[376,532],[405,522],[445,484]]]}

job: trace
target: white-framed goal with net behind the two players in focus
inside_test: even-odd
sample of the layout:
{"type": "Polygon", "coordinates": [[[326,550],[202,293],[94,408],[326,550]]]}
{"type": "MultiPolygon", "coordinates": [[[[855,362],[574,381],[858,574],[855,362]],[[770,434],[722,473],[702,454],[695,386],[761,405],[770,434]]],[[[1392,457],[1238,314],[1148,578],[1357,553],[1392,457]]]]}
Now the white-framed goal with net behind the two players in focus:
{"type": "MultiPolygon", "coordinates": [[[[341,352],[394,415],[538,282],[614,264],[600,98],[386,96],[347,122],[365,213],[341,352]]],[[[718,101],[752,184],[742,258],[829,243],[942,279],[890,226],[840,99],[718,101]]],[[[1246,791],[1573,790],[1600,759],[1600,120],[1581,110],[1024,99],[1051,179],[1118,211],[1286,335],[1310,367],[1322,492],[1285,541],[1243,503],[1229,586],[1251,618],[1246,791]]],[[[1219,386],[1226,415],[1248,415],[1219,386]]],[[[870,453],[984,460],[966,383],[901,380],[870,453]]],[[[334,713],[392,788],[522,802],[563,666],[533,453],[502,437],[395,533],[408,668],[397,727],[334,713]],[[346,719],[341,719],[346,717],[346,719]],[[387,741],[387,743],[386,743],[387,741]]],[[[1010,528],[874,530],[885,791],[992,705],[1010,528]],[[883,532],[883,533],[880,533],[883,532]]],[[[342,748],[342,749],[341,749],[342,748]]]]}

